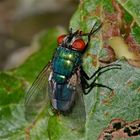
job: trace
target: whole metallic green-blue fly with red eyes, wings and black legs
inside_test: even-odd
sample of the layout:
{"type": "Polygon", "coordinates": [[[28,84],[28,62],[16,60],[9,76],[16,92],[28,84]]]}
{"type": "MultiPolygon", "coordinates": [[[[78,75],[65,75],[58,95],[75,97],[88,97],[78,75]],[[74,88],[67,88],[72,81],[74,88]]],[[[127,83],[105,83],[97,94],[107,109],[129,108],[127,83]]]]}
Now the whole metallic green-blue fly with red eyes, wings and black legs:
{"type": "MultiPolygon", "coordinates": [[[[82,57],[89,47],[91,36],[101,28],[95,23],[89,33],[69,31],[57,39],[58,47],[52,60],[40,72],[25,97],[26,117],[35,116],[43,107],[50,104],[60,113],[76,112],[85,116],[83,95],[94,87],[110,87],[96,83],[98,77],[112,69],[120,69],[119,64],[99,67],[89,77],[83,69],[82,57]],[[87,37],[85,42],[83,37],[87,37]],[[88,81],[92,82],[89,84],[88,81]]],[[[77,118],[77,116],[75,116],[77,118]]]]}

